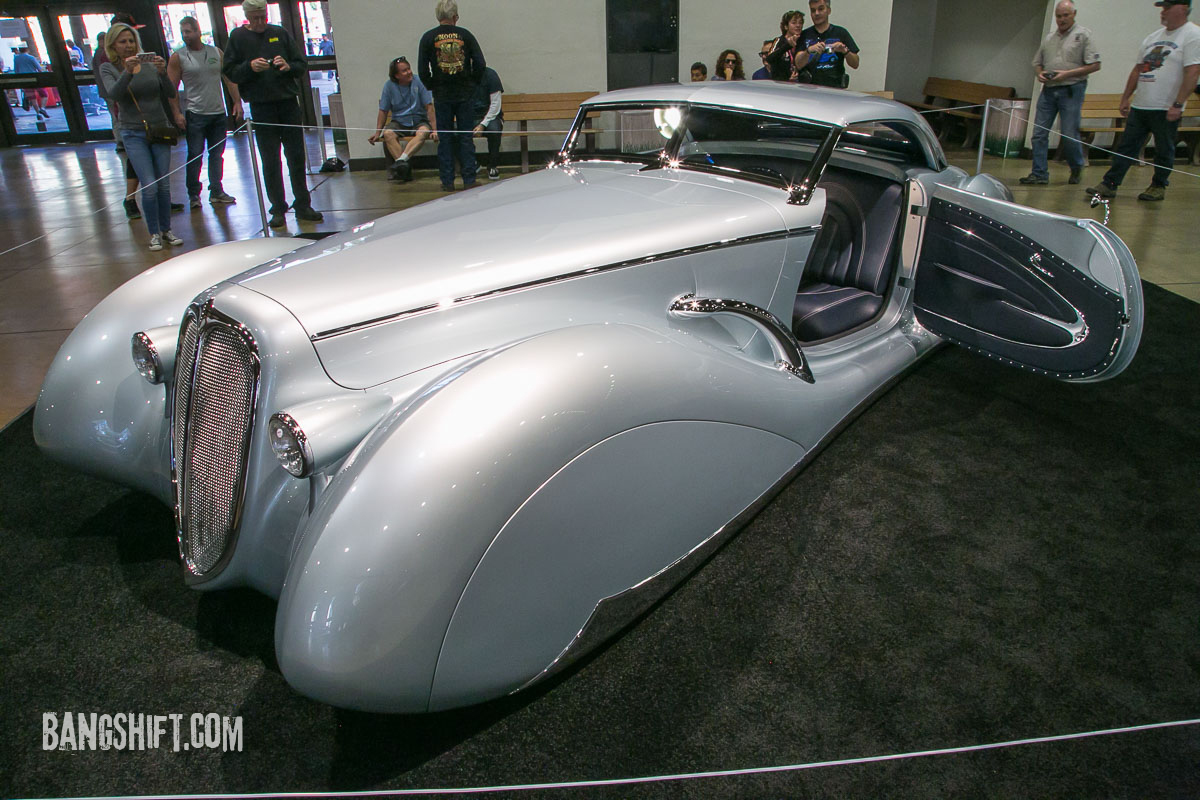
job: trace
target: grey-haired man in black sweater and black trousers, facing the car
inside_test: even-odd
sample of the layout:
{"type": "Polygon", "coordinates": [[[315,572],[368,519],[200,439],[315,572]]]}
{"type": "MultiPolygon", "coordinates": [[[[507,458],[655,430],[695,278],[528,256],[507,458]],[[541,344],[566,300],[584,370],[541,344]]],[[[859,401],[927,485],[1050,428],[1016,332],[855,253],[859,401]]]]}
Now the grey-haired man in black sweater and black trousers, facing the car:
{"type": "Polygon", "coordinates": [[[278,25],[266,23],[266,0],[244,0],[246,25],[229,32],[224,52],[224,76],[238,84],[250,102],[254,120],[254,140],[263,160],[263,182],[271,201],[271,228],[287,224],[283,215],[288,200],[283,194],[283,166],[280,145],[288,160],[292,179],[292,207],[296,219],[320,222],[320,211],[312,207],[308,179],[305,174],[304,131],[300,127],[300,76],[308,68],[304,50],[278,25]]]}

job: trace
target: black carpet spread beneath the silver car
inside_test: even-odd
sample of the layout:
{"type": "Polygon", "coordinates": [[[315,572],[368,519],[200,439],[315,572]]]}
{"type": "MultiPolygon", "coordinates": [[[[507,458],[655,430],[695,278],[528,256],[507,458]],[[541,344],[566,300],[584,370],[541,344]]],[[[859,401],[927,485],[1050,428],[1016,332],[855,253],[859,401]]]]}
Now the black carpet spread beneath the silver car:
{"type": "MultiPolygon", "coordinates": [[[[0,794],[450,788],[731,770],[1200,717],[1200,306],[1116,380],[944,349],[610,646],[486,706],[307,700],[274,603],[186,589],[167,509],[0,434],[0,794]],[[42,750],[46,711],[241,715],[242,752],[42,750]]],[[[488,796],[1182,798],[1200,727],[488,796]]]]}

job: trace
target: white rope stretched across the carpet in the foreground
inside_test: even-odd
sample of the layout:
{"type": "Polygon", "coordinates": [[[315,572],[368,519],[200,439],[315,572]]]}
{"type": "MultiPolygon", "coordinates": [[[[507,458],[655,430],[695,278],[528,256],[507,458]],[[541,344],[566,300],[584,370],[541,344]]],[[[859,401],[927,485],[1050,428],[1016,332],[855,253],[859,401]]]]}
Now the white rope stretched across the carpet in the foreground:
{"type": "Polygon", "coordinates": [[[1054,736],[1010,739],[1008,741],[996,741],[984,745],[967,745],[962,747],[941,747],[937,750],[918,750],[905,753],[889,753],[886,756],[864,756],[860,758],[838,758],[826,762],[786,764],[782,766],[756,766],[756,768],[736,769],[736,770],[714,770],[708,772],[679,772],[673,775],[650,775],[646,777],[608,778],[599,781],[562,781],[554,783],[511,783],[505,786],[478,786],[478,787],[457,787],[457,788],[440,788],[440,789],[377,789],[377,790],[364,790],[364,792],[268,792],[259,794],[155,794],[155,795],[60,798],[59,800],[146,800],[148,798],[158,798],[160,800],[204,800],[204,799],[226,800],[233,798],[253,798],[254,800],[265,798],[397,798],[397,796],[414,796],[414,795],[430,795],[430,794],[490,794],[497,792],[588,789],[588,788],[611,787],[611,786],[666,783],[671,781],[695,781],[695,780],[710,780],[710,778],[722,778],[722,777],[740,777],[748,775],[799,772],[803,770],[828,769],[832,766],[857,766],[862,764],[880,764],[886,762],[898,762],[898,760],[907,760],[916,758],[958,756],[962,753],[978,753],[990,750],[1025,747],[1028,745],[1045,745],[1061,741],[1074,741],[1080,739],[1094,739],[1097,736],[1115,736],[1121,734],[1144,733],[1146,730],[1182,728],[1195,724],[1200,724],[1200,720],[1177,720],[1174,722],[1156,722],[1152,724],[1128,726],[1123,728],[1105,728],[1100,730],[1067,733],[1054,736]]]}

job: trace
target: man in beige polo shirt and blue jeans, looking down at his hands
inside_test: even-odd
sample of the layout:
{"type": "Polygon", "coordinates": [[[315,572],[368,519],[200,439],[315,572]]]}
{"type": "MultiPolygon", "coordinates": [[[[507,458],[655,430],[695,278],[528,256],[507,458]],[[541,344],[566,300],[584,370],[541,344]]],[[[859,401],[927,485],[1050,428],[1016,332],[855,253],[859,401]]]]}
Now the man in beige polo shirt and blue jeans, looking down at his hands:
{"type": "Polygon", "coordinates": [[[1075,24],[1075,4],[1072,0],[1062,0],[1055,6],[1054,20],[1055,30],[1043,40],[1033,56],[1042,96],[1038,97],[1038,113],[1033,120],[1033,172],[1021,179],[1026,186],[1050,182],[1046,151],[1056,116],[1062,128],[1058,146],[1070,164],[1067,182],[1078,184],[1084,170],[1079,118],[1087,92],[1087,76],[1100,68],[1100,54],[1092,41],[1092,31],[1075,24]]]}

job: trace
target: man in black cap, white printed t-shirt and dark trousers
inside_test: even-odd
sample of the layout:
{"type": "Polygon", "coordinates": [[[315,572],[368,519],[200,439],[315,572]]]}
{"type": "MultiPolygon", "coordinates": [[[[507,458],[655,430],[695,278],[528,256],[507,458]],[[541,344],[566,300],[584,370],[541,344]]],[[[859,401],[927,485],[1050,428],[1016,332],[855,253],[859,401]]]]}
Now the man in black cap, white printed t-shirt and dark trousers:
{"type": "Polygon", "coordinates": [[[1121,146],[1104,180],[1087,190],[1116,197],[1124,174],[1136,163],[1142,145],[1154,136],[1154,178],[1139,200],[1162,200],[1175,166],[1175,142],[1183,106],[1200,79],[1200,26],[1188,22],[1192,0],[1159,0],[1163,26],[1147,36],[1121,95],[1127,118],[1121,146]]]}

